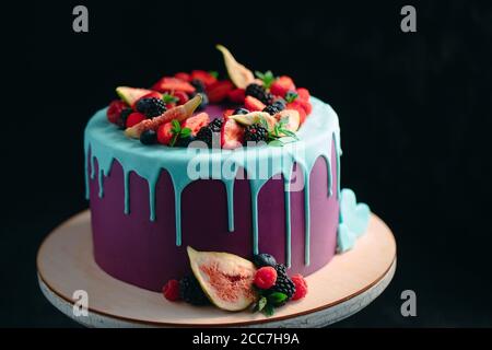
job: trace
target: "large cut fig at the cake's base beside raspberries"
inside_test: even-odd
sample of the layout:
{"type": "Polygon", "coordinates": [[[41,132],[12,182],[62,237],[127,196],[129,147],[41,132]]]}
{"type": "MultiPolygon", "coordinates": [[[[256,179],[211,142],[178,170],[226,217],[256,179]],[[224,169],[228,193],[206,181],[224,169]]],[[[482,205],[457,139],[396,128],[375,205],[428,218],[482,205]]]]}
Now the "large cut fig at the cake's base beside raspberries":
{"type": "Polygon", "coordinates": [[[191,270],[215,306],[241,311],[255,302],[253,280],[256,268],[251,261],[229,253],[187,249],[191,270]]]}

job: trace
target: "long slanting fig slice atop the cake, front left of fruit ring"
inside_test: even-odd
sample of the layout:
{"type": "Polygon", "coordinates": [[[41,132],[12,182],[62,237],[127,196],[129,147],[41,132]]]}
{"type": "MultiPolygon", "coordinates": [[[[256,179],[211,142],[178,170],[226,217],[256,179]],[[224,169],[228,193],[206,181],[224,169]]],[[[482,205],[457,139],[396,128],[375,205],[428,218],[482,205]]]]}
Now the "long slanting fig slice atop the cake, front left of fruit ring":
{"type": "Polygon", "coordinates": [[[174,107],[172,109],[167,109],[164,114],[160,115],[159,117],[142,120],[137,125],[132,125],[131,127],[127,126],[125,135],[129,138],[140,138],[140,135],[143,131],[150,129],[156,130],[161,125],[164,125],[173,119],[176,119],[177,121],[180,122],[189,118],[194,114],[195,109],[197,109],[197,107],[200,105],[200,103],[201,103],[201,95],[197,94],[194,98],[191,98],[184,105],[174,107]]]}

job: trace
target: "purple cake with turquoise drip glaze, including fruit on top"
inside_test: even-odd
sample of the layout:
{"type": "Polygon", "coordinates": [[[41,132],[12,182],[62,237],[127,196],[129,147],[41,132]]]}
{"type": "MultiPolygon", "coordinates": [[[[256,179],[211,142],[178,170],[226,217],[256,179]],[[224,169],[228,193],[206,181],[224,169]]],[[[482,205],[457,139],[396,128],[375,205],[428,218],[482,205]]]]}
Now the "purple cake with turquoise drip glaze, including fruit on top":
{"type": "Polygon", "coordinates": [[[255,78],[219,49],[229,79],[192,71],[119,86],[87,122],[94,258],[118,280],[160,292],[191,273],[188,246],[269,254],[308,276],[365,230],[368,209],[356,233],[340,212],[353,194],[340,190],[330,105],[286,75],[255,78]]]}

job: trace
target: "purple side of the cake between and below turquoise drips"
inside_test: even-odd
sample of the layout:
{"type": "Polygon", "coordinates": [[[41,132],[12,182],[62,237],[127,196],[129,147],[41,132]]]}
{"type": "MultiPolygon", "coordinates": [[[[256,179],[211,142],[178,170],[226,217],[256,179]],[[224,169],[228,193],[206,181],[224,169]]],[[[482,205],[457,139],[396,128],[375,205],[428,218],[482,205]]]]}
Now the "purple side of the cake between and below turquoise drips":
{"type": "MultiPolygon", "coordinates": [[[[331,159],[336,159],[335,145],[331,159]]],[[[97,160],[94,162],[96,174],[97,160]]],[[[332,195],[328,196],[327,166],[318,158],[309,178],[311,264],[305,265],[304,192],[291,192],[291,256],[289,273],[304,276],[320,269],[336,254],[339,203],[337,164],[331,162],[332,195]]],[[[87,166],[91,172],[91,164],[87,166]]],[[[302,176],[297,172],[297,176],[302,176]]],[[[130,213],[124,213],[124,174],[115,160],[98,197],[97,178],[90,179],[94,257],[110,276],[152,291],[169,279],[190,273],[186,246],[250,258],[253,255],[251,199],[247,179],[234,186],[234,232],[227,231],[225,187],[220,180],[197,180],[181,197],[183,244],[176,246],[174,187],[163,170],[156,186],[156,219],[150,221],[149,185],[130,173],[130,213]]],[[[270,179],[258,198],[259,250],[285,262],[286,234],[283,180],[270,179]]]]}

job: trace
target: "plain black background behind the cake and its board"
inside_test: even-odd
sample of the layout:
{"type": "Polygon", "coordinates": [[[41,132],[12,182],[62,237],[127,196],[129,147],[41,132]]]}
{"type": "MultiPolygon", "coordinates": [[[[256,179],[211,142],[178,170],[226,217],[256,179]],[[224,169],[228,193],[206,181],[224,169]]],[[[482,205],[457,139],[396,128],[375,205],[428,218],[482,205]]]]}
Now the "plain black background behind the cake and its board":
{"type": "Polygon", "coordinates": [[[0,326],[77,326],[42,295],[35,257],[50,230],[87,208],[84,126],[119,84],[223,71],[216,43],[333,106],[342,186],[395,233],[394,281],[337,326],[492,326],[490,2],[179,3],[45,1],[3,13],[19,31],[4,32],[2,54],[16,90],[2,117],[0,326]],[[72,32],[79,3],[87,34],[72,32]],[[400,31],[403,4],[417,8],[417,33],[400,31]],[[418,317],[400,315],[406,289],[418,317]]]}

